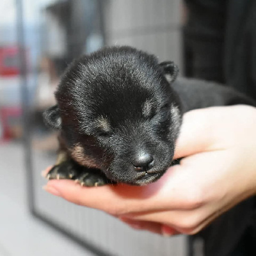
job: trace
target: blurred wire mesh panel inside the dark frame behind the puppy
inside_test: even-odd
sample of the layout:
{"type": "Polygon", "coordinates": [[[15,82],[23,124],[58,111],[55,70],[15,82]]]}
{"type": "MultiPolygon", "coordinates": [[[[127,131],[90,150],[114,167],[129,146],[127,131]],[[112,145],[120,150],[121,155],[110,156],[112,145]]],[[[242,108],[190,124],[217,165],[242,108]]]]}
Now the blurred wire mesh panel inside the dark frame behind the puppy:
{"type": "Polygon", "coordinates": [[[54,90],[68,63],[104,45],[131,45],[181,64],[180,1],[41,0],[35,4],[38,40],[32,134],[34,213],[99,255],[186,255],[186,237],[138,232],[104,212],[48,195],[40,172],[54,164],[56,134],[44,127],[42,112],[54,104],[54,90]]]}

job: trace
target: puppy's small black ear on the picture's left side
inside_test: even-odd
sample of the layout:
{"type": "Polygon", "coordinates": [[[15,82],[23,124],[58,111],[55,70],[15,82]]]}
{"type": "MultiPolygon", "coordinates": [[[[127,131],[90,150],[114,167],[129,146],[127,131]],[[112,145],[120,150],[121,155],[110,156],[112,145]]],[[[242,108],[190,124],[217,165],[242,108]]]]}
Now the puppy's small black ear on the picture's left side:
{"type": "Polygon", "coordinates": [[[61,117],[58,105],[54,105],[51,108],[45,110],[43,117],[45,124],[47,124],[50,128],[55,130],[61,129],[61,117]]]}

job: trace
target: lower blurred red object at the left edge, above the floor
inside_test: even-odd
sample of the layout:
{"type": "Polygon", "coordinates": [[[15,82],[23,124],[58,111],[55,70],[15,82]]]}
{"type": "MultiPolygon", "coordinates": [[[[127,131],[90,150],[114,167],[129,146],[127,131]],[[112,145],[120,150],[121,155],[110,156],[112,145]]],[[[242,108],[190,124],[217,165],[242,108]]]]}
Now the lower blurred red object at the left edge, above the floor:
{"type": "Polygon", "coordinates": [[[22,110],[20,107],[0,108],[0,125],[2,130],[0,142],[12,139],[12,119],[20,118],[21,114],[22,110]]]}

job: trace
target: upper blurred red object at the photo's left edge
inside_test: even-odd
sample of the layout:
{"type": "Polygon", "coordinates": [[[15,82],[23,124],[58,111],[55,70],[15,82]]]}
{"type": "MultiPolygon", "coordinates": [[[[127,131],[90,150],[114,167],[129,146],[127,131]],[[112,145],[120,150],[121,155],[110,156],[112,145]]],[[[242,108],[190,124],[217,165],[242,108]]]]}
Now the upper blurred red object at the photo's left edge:
{"type": "Polygon", "coordinates": [[[17,46],[0,47],[0,76],[18,76],[19,74],[19,48],[17,46]]]}

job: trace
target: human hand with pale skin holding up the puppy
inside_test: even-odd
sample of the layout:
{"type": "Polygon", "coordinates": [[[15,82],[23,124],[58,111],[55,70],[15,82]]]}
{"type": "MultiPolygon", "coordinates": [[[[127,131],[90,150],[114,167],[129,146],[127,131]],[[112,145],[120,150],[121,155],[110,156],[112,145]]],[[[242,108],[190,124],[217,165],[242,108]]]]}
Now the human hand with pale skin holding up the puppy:
{"type": "Polygon", "coordinates": [[[71,180],[45,187],[75,204],[108,212],[134,228],[195,234],[256,192],[256,109],[214,107],[184,115],[175,158],[157,182],[82,188],[71,180]]]}

